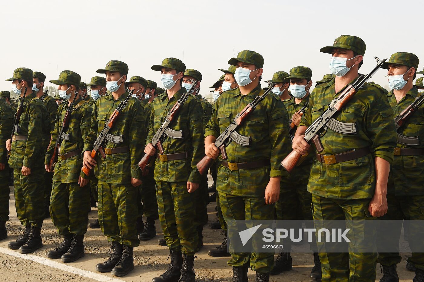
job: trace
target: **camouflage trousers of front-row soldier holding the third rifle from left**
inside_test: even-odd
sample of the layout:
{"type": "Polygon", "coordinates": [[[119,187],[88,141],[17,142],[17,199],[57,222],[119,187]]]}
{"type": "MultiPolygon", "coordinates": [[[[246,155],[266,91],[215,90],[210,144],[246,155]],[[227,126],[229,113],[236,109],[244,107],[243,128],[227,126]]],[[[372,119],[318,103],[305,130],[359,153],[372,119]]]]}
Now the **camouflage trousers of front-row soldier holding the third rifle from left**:
{"type": "Polygon", "coordinates": [[[99,224],[108,242],[137,247],[137,188],[98,180],[99,224]]]}

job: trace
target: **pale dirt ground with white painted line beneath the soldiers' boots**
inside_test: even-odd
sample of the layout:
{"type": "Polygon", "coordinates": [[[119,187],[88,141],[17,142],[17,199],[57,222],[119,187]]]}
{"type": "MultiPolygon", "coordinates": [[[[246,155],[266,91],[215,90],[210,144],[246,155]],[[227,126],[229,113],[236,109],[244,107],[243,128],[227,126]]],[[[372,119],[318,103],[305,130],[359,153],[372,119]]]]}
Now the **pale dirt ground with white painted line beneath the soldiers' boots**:
{"type": "MultiPolygon", "coordinates": [[[[196,281],[198,282],[230,282],[232,281],[232,268],[227,265],[227,257],[214,258],[207,255],[207,251],[215,246],[220,245],[221,230],[213,230],[209,227],[209,223],[217,220],[215,216],[215,202],[208,205],[209,222],[204,227],[204,247],[198,252],[195,259],[196,281]]],[[[15,240],[23,231],[20,222],[17,219],[13,188],[10,188],[10,221],[7,222],[8,238],[0,241],[0,247],[7,248],[8,241],[15,240]]],[[[97,218],[97,209],[93,208],[89,213],[89,221],[97,218]]],[[[90,279],[80,274],[74,274],[63,271],[62,268],[53,268],[43,265],[36,261],[14,257],[6,254],[0,248],[0,281],[112,281],[117,278],[121,281],[139,281],[150,282],[155,276],[162,274],[169,264],[168,250],[156,244],[157,239],[161,238],[162,230],[159,222],[156,221],[156,230],[158,235],[151,241],[141,241],[140,246],[134,249],[134,271],[131,271],[125,277],[114,277],[110,273],[101,274],[95,271],[95,265],[101,263],[109,257],[110,244],[106,241],[100,229],[88,229],[84,238],[85,257],[74,263],[61,263],[60,260],[54,260],[64,266],[73,266],[75,268],[92,271],[100,274],[100,279],[90,279]]],[[[61,241],[61,237],[57,234],[50,218],[45,219],[42,228],[42,239],[44,246],[38,249],[33,256],[46,257],[49,249],[56,247],[61,241]]],[[[13,251],[17,252],[17,251],[13,251]]],[[[402,254],[402,262],[398,265],[399,281],[412,281],[414,273],[407,271],[405,268],[408,254],[402,254]]],[[[308,281],[313,257],[312,254],[292,253],[293,270],[283,272],[282,274],[271,276],[270,281],[308,281]]],[[[249,271],[249,281],[254,281],[255,272],[249,271]]],[[[381,278],[379,265],[377,266],[377,281],[381,278]]]]}

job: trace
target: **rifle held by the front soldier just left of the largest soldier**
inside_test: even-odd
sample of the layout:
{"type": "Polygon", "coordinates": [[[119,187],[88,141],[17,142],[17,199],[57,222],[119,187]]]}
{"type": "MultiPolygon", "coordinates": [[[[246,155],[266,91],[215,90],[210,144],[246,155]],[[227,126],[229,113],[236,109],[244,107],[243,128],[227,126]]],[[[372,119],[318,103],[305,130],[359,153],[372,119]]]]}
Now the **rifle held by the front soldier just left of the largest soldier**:
{"type": "MultiPolygon", "coordinates": [[[[230,125],[215,140],[215,146],[221,150],[223,160],[228,158],[225,147],[227,147],[231,141],[234,141],[242,146],[250,146],[251,137],[238,134],[236,129],[255,110],[259,103],[265,99],[265,97],[271,92],[275,85],[276,83],[268,85],[268,89],[264,94],[255,97],[255,99],[246,105],[240,113],[237,113],[230,125]]],[[[200,174],[203,175],[212,166],[214,161],[214,159],[209,158],[208,156],[204,156],[203,159],[201,159],[197,164],[197,169],[199,170],[200,174]]]]}

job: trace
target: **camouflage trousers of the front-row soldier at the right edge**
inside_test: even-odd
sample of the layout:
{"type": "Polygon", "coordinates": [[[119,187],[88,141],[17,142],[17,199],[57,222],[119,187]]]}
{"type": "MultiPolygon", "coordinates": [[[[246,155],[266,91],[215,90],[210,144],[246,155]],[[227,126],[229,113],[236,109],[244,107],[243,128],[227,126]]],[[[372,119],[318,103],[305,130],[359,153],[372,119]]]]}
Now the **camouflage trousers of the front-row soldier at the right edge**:
{"type": "MultiPolygon", "coordinates": [[[[377,232],[377,237],[385,236],[390,230],[391,234],[396,231],[396,236],[391,236],[391,246],[399,246],[399,238],[402,231],[402,219],[424,219],[424,195],[418,196],[395,196],[394,194],[387,194],[388,211],[384,216],[379,219],[397,219],[399,224],[396,226],[381,226],[377,232]]],[[[416,232],[416,228],[409,228],[408,238],[410,247],[413,248],[413,241],[422,240],[422,233],[416,232]],[[420,239],[421,238],[421,239],[420,239]]],[[[377,246],[381,241],[377,240],[377,246]]],[[[390,266],[398,264],[402,260],[399,252],[395,253],[379,253],[377,262],[382,265],[390,266]]],[[[412,263],[416,268],[424,270],[424,253],[412,253],[407,260],[412,263]]]]}

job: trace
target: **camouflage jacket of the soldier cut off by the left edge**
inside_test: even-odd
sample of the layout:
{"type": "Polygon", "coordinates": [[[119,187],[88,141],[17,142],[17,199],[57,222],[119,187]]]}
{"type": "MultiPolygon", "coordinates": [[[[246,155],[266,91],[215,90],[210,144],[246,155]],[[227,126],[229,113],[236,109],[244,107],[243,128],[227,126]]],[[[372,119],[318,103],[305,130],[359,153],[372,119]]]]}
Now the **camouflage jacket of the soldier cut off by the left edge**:
{"type": "MultiPolygon", "coordinates": [[[[11,106],[6,103],[6,99],[0,98],[0,163],[7,163],[6,140],[10,138],[14,124],[14,113],[11,106]]],[[[7,167],[7,166],[6,166],[7,167]]],[[[7,177],[9,171],[0,170],[0,178],[7,177]]]]}

